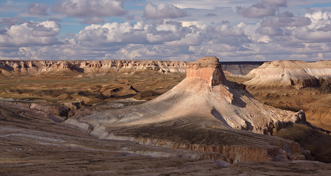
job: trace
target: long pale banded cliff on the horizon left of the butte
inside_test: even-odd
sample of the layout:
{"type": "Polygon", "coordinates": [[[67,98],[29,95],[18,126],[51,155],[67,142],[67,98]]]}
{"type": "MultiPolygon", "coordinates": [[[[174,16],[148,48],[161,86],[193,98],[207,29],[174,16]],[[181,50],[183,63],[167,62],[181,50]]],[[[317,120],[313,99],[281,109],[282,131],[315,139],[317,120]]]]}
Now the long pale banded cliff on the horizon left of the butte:
{"type": "Polygon", "coordinates": [[[186,73],[186,62],[159,60],[101,61],[0,61],[0,73],[17,74],[105,74],[119,71],[154,70],[161,73],[186,73]]]}

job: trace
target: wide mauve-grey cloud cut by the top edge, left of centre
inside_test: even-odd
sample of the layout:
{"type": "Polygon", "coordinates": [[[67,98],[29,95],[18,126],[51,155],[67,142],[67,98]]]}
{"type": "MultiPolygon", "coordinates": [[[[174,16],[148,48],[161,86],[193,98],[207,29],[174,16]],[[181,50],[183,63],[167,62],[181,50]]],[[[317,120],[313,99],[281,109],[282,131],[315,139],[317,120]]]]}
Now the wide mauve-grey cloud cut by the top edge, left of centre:
{"type": "Polygon", "coordinates": [[[69,17],[122,16],[127,14],[123,8],[123,2],[116,0],[65,0],[54,3],[52,12],[63,13],[69,17]]]}

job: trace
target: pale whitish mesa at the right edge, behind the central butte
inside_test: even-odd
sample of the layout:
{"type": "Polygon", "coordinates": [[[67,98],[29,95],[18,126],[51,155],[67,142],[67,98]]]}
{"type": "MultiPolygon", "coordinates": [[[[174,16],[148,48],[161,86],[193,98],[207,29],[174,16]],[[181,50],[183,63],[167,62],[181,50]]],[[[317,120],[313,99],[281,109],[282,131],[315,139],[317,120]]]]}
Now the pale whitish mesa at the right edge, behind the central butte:
{"type": "Polygon", "coordinates": [[[273,61],[265,62],[245,77],[247,85],[294,86],[330,88],[331,60],[318,62],[273,61]]]}

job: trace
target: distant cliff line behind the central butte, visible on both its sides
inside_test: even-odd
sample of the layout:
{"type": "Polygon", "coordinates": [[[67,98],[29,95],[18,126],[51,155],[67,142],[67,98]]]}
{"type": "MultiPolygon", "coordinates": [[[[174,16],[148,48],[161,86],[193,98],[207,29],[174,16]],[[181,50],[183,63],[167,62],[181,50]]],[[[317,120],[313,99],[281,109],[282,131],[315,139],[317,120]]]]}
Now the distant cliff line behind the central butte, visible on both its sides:
{"type": "MultiPolygon", "coordinates": [[[[186,74],[184,61],[101,60],[101,61],[19,61],[0,60],[0,76],[61,75],[82,78],[82,74],[103,76],[109,73],[128,74],[154,71],[163,74],[186,74]]],[[[246,75],[263,62],[224,62],[222,68],[230,74],[246,75]]]]}

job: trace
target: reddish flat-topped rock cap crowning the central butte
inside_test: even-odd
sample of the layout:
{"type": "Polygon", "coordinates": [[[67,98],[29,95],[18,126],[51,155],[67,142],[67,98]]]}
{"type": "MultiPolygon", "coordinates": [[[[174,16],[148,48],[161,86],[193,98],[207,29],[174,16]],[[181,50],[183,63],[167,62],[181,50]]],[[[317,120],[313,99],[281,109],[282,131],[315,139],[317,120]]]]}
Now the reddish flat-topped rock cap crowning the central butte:
{"type": "Polygon", "coordinates": [[[225,84],[225,76],[217,57],[203,57],[186,65],[186,78],[207,79],[211,86],[225,84]]]}

